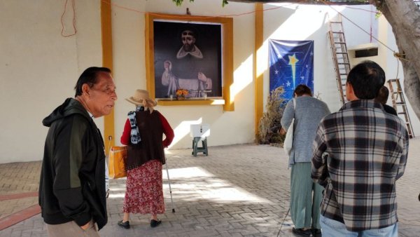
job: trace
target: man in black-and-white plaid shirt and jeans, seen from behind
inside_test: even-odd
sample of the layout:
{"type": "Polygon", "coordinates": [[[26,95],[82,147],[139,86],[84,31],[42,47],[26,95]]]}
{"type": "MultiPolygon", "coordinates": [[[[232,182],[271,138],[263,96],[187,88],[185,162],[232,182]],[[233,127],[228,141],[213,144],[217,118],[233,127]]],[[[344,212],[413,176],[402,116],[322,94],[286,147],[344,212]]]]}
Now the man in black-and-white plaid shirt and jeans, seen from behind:
{"type": "Polygon", "coordinates": [[[373,100],[384,83],[375,62],[356,65],[346,81],[349,102],[318,126],[311,176],[325,187],[324,237],[398,236],[395,182],[409,137],[404,121],[373,100]]]}

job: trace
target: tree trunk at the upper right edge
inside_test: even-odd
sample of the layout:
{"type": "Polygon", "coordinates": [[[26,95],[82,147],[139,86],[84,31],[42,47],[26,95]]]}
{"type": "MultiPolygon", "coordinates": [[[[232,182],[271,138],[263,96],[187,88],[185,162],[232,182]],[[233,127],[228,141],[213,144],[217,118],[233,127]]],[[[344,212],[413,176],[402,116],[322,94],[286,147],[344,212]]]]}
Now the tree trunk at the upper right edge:
{"type": "MultiPolygon", "coordinates": [[[[372,4],[376,5],[377,1],[372,4]]],[[[392,27],[404,69],[404,91],[420,118],[420,10],[413,0],[383,0],[379,10],[392,27]]]]}

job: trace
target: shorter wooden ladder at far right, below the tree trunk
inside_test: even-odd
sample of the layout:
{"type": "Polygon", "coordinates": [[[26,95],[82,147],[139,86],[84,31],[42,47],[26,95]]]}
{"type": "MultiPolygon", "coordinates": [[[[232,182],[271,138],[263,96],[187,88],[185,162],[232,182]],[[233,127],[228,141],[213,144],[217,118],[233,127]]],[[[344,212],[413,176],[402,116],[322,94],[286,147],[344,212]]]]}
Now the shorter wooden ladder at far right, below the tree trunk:
{"type": "Polygon", "coordinates": [[[409,138],[414,137],[412,130],[411,120],[407,110],[407,104],[405,104],[404,93],[400,84],[400,79],[389,79],[388,80],[389,93],[391,93],[391,100],[397,114],[402,114],[405,119],[405,125],[407,126],[409,138]]]}

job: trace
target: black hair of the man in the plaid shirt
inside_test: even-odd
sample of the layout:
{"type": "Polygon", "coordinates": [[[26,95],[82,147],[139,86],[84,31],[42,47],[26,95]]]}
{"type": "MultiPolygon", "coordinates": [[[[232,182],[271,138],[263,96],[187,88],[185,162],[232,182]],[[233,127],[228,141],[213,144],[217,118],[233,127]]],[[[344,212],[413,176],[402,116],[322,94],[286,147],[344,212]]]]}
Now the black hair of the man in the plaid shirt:
{"type": "Polygon", "coordinates": [[[376,62],[367,60],[353,67],[347,76],[347,83],[353,86],[354,95],[362,100],[377,97],[385,83],[385,72],[376,62]]]}

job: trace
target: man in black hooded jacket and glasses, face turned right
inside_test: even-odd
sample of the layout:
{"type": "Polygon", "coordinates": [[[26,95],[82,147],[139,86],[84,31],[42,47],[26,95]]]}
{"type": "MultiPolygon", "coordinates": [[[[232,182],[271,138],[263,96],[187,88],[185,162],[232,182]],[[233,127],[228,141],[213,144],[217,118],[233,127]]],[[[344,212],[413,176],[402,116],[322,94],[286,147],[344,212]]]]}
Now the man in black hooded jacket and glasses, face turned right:
{"type": "Polygon", "coordinates": [[[92,118],[110,114],[117,100],[111,70],[87,68],[75,89],[43,119],[39,205],[49,236],[99,236],[108,219],[104,141],[92,118]]]}

